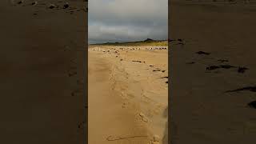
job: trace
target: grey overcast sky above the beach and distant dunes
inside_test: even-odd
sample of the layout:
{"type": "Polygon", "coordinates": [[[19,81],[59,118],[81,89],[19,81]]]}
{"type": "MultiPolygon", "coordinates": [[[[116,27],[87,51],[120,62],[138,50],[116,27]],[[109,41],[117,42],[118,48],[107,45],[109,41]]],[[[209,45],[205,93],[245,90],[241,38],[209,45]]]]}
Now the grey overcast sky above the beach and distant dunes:
{"type": "Polygon", "coordinates": [[[168,0],[89,1],[89,43],[168,38],[168,0]]]}

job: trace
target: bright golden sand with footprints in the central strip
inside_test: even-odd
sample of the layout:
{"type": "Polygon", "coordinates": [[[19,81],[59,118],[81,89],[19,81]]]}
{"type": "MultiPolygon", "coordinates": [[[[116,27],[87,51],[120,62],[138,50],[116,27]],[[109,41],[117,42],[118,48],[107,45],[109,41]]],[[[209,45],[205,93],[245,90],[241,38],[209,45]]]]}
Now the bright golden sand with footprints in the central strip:
{"type": "Polygon", "coordinates": [[[89,143],[166,143],[168,50],[150,47],[90,46],[89,143]]]}

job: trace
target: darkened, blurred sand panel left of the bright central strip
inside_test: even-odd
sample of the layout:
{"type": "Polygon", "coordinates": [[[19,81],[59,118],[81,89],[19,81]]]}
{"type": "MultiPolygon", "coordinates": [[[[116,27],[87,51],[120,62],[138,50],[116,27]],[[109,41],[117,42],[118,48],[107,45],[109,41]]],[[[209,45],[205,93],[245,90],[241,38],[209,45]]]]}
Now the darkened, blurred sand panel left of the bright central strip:
{"type": "Polygon", "coordinates": [[[85,143],[87,4],[32,2],[0,2],[0,143],[85,143]]]}

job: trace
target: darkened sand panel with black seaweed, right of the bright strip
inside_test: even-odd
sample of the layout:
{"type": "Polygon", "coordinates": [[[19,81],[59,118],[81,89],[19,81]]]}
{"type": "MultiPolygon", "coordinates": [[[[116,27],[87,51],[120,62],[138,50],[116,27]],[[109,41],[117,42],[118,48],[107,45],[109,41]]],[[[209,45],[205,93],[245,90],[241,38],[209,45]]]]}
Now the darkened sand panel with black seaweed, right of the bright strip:
{"type": "Polygon", "coordinates": [[[171,1],[169,9],[170,39],[181,38],[184,44],[169,42],[171,141],[254,143],[256,110],[247,104],[256,100],[255,93],[225,92],[256,85],[256,4],[171,1]],[[206,70],[220,65],[249,70],[206,70]]]}

